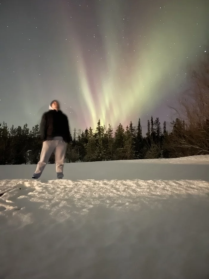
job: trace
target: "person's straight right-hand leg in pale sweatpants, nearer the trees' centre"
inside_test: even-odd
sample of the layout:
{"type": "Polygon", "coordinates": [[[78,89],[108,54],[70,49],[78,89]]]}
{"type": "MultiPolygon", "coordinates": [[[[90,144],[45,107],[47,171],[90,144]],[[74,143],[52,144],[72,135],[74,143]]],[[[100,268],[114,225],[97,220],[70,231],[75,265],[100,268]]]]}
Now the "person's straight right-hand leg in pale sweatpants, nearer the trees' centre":
{"type": "Polygon", "coordinates": [[[58,141],[55,148],[55,163],[56,163],[56,173],[57,178],[63,178],[63,167],[64,167],[64,158],[67,149],[67,144],[64,141],[58,141]]]}

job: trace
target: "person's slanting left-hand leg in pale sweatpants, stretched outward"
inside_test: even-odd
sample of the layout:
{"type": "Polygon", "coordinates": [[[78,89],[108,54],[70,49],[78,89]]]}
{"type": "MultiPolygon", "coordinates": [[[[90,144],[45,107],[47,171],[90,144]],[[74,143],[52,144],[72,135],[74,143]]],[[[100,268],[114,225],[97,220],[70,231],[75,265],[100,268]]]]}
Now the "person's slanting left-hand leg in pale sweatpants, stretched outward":
{"type": "Polygon", "coordinates": [[[40,155],[40,161],[37,164],[36,171],[33,174],[34,178],[39,178],[44,170],[44,167],[46,166],[47,162],[49,161],[49,158],[54,151],[56,145],[55,141],[44,141],[42,146],[42,152],[40,155]]]}

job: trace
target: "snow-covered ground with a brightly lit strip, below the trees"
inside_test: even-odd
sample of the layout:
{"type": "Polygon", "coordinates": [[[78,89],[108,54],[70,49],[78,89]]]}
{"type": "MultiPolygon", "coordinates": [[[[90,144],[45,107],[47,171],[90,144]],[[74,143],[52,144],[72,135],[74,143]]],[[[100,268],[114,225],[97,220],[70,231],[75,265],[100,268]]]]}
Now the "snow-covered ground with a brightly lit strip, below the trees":
{"type": "Polygon", "coordinates": [[[209,156],[35,167],[0,166],[0,278],[209,278],[209,156]]]}

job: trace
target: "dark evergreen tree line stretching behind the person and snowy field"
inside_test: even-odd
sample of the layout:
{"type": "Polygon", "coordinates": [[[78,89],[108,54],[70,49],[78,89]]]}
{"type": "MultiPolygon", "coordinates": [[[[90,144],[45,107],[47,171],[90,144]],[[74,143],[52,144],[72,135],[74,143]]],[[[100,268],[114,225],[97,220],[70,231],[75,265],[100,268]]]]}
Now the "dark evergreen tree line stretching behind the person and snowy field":
{"type": "MultiPolygon", "coordinates": [[[[67,146],[66,159],[70,162],[92,162],[110,160],[132,160],[151,158],[176,158],[209,153],[208,136],[194,132],[185,121],[176,118],[168,132],[166,122],[161,127],[159,118],[147,121],[146,136],[142,136],[142,126],[132,122],[125,128],[119,124],[115,133],[111,125],[106,128],[97,123],[96,130],[90,127],[77,134],[76,129],[67,146]]],[[[208,127],[207,123],[205,128],[208,127]]],[[[30,130],[25,124],[10,129],[6,123],[0,124],[0,164],[37,164],[40,158],[42,141],[39,137],[39,125],[30,130]]],[[[54,154],[49,163],[54,163],[54,154]]]]}

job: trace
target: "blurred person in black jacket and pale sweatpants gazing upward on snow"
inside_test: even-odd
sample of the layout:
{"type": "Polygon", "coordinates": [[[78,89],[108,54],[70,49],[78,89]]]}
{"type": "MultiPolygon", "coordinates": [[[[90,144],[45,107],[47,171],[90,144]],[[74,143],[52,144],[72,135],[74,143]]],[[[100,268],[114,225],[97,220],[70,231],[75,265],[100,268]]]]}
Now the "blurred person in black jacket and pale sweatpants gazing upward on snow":
{"type": "Polygon", "coordinates": [[[51,154],[54,152],[57,178],[62,179],[67,143],[70,142],[70,129],[67,115],[60,110],[57,100],[53,100],[50,103],[49,111],[42,115],[40,135],[43,146],[40,161],[32,178],[38,179],[41,176],[51,154]]]}

